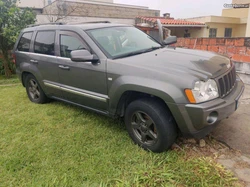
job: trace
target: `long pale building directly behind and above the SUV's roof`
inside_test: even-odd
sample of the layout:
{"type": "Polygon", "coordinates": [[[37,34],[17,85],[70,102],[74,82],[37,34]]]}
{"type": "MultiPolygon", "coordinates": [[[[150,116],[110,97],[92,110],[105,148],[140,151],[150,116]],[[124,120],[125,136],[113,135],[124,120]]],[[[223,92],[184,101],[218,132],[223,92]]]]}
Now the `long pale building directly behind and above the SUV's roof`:
{"type": "Polygon", "coordinates": [[[111,21],[135,24],[137,16],[159,16],[160,10],[113,3],[113,0],[20,0],[19,7],[40,10],[38,23],[111,21]]]}

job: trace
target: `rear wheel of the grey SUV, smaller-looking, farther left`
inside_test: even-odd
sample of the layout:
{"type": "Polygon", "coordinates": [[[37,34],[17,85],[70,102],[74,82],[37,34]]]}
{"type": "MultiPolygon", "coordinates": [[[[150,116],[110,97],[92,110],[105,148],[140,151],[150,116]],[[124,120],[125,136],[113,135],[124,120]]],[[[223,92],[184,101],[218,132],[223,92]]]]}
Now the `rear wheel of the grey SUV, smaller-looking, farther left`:
{"type": "Polygon", "coordinates": [[[43,104],[49,101],[48,97],[45,95],[41,86],[33,75],[27,75],[25,79],[25,87],[31,102],[43,104]]]}

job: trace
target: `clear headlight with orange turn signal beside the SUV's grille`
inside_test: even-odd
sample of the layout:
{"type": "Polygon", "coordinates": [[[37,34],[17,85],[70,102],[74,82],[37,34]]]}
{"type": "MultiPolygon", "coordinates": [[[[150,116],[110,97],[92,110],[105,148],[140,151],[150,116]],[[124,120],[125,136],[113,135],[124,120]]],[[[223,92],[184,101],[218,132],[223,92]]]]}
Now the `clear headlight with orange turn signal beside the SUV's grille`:
{"type": "Polygon", "coordinates": [[[217,84],[212,79],[195,82],[194,89],[186,89],[185,93],[190,103],[202,103],[219,97],[217,84]]]}

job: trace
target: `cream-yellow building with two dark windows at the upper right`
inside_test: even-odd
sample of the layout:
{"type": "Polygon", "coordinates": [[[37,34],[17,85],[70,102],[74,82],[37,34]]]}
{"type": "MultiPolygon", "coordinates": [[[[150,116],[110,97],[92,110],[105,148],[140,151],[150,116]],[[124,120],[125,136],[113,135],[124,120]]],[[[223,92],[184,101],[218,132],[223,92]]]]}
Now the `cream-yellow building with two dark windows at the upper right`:
{"type": "Polygon", "coordinates": [[[233,0],[225,4],[221,16],[185,19],[204,23],[205,28],[190,32],[190,37],[250,37],[250,0],[233,0]]]}

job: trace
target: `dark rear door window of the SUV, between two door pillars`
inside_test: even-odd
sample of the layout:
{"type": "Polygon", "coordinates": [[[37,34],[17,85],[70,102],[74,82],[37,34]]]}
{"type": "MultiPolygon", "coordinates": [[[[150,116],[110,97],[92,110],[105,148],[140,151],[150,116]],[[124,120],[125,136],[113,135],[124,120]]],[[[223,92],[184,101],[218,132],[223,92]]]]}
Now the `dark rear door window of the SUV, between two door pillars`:
{"type": "Polygon", "coordinates": [[[37,32],[34,52],[45,55],[55,55],[55,31],[37,32]]]}

